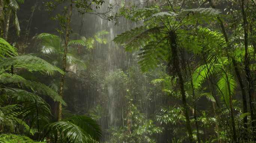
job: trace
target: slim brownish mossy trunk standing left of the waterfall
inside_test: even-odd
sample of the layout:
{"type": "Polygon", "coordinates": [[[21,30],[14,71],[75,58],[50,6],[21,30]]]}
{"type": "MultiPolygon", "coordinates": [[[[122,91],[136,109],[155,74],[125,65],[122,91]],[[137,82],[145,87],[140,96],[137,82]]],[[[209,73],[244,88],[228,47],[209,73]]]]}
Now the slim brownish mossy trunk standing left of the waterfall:
{"type": "MultiPolygon", "coordinates": [[[[65,47],[64,47],[64,54],[63,54],[63,71],[66,71],[66,63],[67,63],[67,48],[68,48],[68,40],[69,40],[69,33],[70,33],[70,23],[71,23],[71,16],[72,16],[72,0],[70,2],[70,6],[68,7],[67,13],[67,24],[66,24],[66,35],[65,35],[65,47]]],[[[64,91],[64,79],[65,74],[61,75],[61,82],[60,82],[60,96],[63,97],[64,91]]],[[[59,102],[58,107],[58,121],[62,119],[62,104],[59,102]]]]}

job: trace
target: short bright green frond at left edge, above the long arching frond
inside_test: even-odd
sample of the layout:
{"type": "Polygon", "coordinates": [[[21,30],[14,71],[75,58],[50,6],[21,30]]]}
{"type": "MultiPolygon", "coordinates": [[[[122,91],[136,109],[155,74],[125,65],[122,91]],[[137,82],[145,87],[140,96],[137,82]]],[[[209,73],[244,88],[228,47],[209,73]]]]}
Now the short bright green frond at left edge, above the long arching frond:
{"type": "Polygon", "coordinates": [[[13,57],[17,55],[17,49],[6,42],[3,38],[0,38],[0,57],[13,57]]]}

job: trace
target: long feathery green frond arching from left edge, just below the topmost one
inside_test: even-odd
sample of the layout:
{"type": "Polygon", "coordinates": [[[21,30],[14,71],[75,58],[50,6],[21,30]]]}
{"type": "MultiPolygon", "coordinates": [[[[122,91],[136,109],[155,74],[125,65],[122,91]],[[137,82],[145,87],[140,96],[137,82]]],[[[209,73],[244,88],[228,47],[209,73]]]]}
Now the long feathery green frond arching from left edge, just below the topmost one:
{"type": "Polygon", "coordinates": [[[54,75],[56,71],[61,74],[65,74],[64,71],[60,70],[58,67],[53,66],[47,61],[32,55],[0,58],[0,63],[0,67],[3,69],[9,69],[10,66],[13,66],[14,68],[24,68],[28,71],[39,71],[41,73],[48,73],[49,75],[54,75]]]}

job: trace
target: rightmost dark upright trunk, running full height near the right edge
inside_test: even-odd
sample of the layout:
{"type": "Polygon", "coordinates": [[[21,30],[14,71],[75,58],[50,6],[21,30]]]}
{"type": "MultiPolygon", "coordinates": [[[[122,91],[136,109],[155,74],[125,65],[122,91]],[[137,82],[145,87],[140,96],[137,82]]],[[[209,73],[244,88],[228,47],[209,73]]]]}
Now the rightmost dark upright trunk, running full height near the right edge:
{"type": "Polygon", "coordinates": [[[242,14],[243,14],[243,27],[244,27],[244,48],[245,48],[245,54],[244,54],[244,63],[245,63],[245,72],[246,72],[246,79],[248,82],[249,87],[249,101],[250,101],[250,112],[251,112],[251,120],[252,120],[252,138],[255,140],[255,114],[254,114],[254,83],[251,75],[250,70],[250,61],[249,61],[249,53],[248,53],[248,26],[247,26],[247,16],[246,12],[244,10],[244,0],[242,0],[242,14]]]}

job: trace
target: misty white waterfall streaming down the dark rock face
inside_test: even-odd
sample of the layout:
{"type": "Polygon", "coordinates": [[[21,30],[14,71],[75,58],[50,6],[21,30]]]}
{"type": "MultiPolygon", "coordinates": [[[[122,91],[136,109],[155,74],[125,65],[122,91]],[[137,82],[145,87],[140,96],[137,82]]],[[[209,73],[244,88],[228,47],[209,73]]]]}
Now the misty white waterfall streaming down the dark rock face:
{"type": "MultiPolygon", "coordinates": [[[[104,12],[107,9],[107,6],[109,4],[113,5],[121,5],[121,3],[125,4],[131,4],[131,3],[140,3],[143,0],[108,0],[105,1],[105,4],[100,8],[99,12],[104,12]]],[[[119,7],[120,8],[120,7],[119,7]]],[[[115,9],[117,10],[117,9],[115,9]]],[[[114,11],[115,11],[114,10],[114,11]]],[[[114,12],[115,13],[115,12],[114,12]]],[[[97,15],[84,15],[84,16],[79,16],[77,14],[76,18],[73,19],[73,21],[77,21],[77,23],[80,24],[79,21],[81,21],[82,18],[82,27],[80,29],[80,26],[78,25],[72,25],[73,29],[75,31],[81,31],[81,35],[85,36],[92,36],[96,32],[106,30],[109,32],[109,35],[106,36],[107,38],[107,44],[98,44],[97,47],[95,48],[94,52],[94,58],[101,58],[101,60],[95,61],[101,63],[104,62],[104,68],[105,69],[105,75],[109,75],[118,69],[125,70],[134,61],[134,58],[136,57],[136,54],[130,54],[125,52],[124,48],[119,47],[116,45],[112,40],[116,37],[116,35],[121,34],[122,32],[125,32],[131,28],[135,28],[136,26],[139,26],[139,23],[134,23],[131,22],[125,18],[120,18],[118,25],[116,25],[113,21],[108,21],[105,19],[100,18],[97,15]]],[[[97,63],[95,63],[97,65],[97,63]]],[[[100,83],[100,81],[99,81],[100,83]]],[[[120,107],[120,99],[122,96],[122,93],[116,93],[115,89],[116,85],[115,83],[109,83],[107,85],[107,99],[108,101],[104,102],[104,108],[108,111],[108,118],[104,119],[107,121],[100,121],[103,130],[109,128],[109,127],[116,127],[120,126],[120,123],[117,123],[117,119],[120,120],[121,116],[120,113],[122,109],[118,108],[120,107]],[[107,122],[107,123],[106,123],[107,122]]],[[[145,93],[147,94],[147,93],[145,93]]],[[[100,97],[101,98],[101,97],[100,97]]]]}

